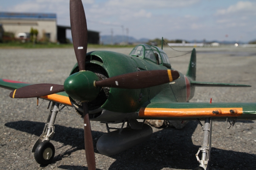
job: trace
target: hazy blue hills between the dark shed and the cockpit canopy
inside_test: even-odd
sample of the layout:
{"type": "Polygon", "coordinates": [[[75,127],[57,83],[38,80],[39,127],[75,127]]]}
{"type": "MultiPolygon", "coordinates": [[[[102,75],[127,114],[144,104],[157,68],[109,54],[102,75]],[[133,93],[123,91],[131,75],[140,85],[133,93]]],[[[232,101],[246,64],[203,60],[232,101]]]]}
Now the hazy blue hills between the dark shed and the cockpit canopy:
{"type": "Polygon", "coordinates": [[[134,37],[131,36],[122,36],[122,35],[115,35],[113,38],[111,35],[101,35],[101,42],[103,44],[119,44],[121,42],[129,42],[129,43],[146,43],[149,41],[147,38],[141,38],[139,40],[135,39],[134,37]]]}

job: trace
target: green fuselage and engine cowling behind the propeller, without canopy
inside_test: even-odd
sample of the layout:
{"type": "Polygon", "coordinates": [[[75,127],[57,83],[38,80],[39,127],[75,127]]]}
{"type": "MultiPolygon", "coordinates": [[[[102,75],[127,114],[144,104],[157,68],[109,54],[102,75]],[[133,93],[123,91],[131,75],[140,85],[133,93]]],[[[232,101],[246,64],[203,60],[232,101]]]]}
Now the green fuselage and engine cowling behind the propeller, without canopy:
{"type": "MultiPolygon", "coordinates": [[[[88,64],[96,64],[102,67],[107,72],[108,77],[143,70],[174,70],[170,67],[157,65],[141,57],[110,51],[93,51],[87,53],[86,65],[88,64]]],[[[76,72],[77,69],[78,66],[76,64],[71,74],[76,72]]],[[[194,88],[190,88],[189,82],[186,85],[185,76],[180,73],[180,78],[173,81],[171,85],[167,83],[143,89],[110,88],[108,99],[101,108],[111,112],[131,113],[138,111],[140,107],[149,104],[150,101],[186,102],[193,95],[194,88]],[[187,92],[187,88],[189,88],[189,93],[187,92]]]]}

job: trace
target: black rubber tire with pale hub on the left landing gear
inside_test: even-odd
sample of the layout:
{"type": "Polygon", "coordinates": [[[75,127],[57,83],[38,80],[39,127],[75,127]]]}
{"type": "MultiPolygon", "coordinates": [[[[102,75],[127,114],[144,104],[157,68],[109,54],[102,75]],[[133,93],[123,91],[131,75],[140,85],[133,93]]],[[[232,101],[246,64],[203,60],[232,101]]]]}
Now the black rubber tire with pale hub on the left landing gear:
{"type": "Polygon", "coordinates": [[[49,141],[44,141],[36,147],[36,150],[35,150],[36,162],[40,165],[48,165],[52,162],[52,159],[54,158],[54,154],[55,154],[55,148],[53,144],[49,141]]]}

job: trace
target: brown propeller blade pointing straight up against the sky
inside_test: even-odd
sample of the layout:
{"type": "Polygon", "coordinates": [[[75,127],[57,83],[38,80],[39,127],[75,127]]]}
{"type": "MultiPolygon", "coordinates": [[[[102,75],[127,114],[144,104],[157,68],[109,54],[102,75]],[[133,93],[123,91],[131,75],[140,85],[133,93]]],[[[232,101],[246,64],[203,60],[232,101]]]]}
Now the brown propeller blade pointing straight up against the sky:
{"type": "Polygon", "coordinates": [[[79,70],[85,70],[87,50],[87,24],[81,0],[70,0],[70,25],[79,70]]]}

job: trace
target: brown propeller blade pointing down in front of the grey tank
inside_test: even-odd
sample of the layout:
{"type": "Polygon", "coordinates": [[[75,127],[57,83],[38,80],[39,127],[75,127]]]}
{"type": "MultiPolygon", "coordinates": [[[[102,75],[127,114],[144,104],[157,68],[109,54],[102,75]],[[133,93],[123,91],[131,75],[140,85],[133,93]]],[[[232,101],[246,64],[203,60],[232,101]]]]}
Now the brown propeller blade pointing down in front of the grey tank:
{"type": "Polygon", "coordinates": [[[87,103],[83,103],[84,109],[84,148],[88,170],[96,170],[95,155],[92,141],[92,131],[89,119],[87,103]]]}

